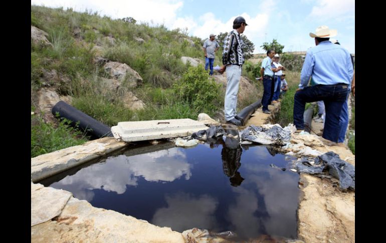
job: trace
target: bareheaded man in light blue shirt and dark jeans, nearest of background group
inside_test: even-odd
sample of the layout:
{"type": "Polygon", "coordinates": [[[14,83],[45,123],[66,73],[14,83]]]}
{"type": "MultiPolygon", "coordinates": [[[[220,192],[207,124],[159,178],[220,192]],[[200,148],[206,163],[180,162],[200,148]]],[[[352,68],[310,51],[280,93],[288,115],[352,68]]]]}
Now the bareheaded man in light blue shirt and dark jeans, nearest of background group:
{"type": "Polygon", "coordinates": [[[273,97],[272,94],[272,86],[274,85],[273,81],[273,74],[274,72],[278,72],[281,70],[281,67],[279,68],[272,68],[272,58],[275,56],[274,50],[268,50],[267,51],[267,57],[263,59],[263,62],[261,63],[261,70],[260,74],[261,77],[263,77],[263,86],[264,86],[264,93],[263,98],[261,98],[261,104],[263,105],[263,113],[271,114],[271,111],[268,110],[268,105],[270,104],[270,99],[273,97]]]}

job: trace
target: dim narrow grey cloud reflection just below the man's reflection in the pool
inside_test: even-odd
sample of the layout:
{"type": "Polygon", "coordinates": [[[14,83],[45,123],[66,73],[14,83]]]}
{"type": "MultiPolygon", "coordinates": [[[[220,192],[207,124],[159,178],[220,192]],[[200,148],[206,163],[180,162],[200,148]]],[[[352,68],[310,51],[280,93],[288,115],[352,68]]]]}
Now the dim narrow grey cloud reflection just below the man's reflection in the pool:
{"type": "Polygon", "coordinates": [[[257,197],[254,190],[242,187],[232,189],[236,196],[236,204],[231,204],[228,209],[227,219],[231,222],[232,230],[240,235],[253,237],[259,229],[259,219],[253,214],[258,209],[257,197]]]}

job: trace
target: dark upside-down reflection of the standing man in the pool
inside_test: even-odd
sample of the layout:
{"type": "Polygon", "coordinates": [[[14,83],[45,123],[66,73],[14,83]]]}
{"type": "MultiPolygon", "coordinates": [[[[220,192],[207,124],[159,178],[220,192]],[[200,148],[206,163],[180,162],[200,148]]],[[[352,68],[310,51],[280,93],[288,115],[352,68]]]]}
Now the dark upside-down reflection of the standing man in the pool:
{"type": "Polygon", "coordinates": [[[240,172],[237,171],[241,166],[240,159],[243,149],[239,145],[238,132],[235,133],[235,135],[232,135],[232,133],[235,132],[229,133],[229,131],[227,131],[225,144],[223,144],[223,150],[221,151],[221,158],[223,159],[224,174],[230,177],[231,185],[239,186],[244,180],[240,172]]]}

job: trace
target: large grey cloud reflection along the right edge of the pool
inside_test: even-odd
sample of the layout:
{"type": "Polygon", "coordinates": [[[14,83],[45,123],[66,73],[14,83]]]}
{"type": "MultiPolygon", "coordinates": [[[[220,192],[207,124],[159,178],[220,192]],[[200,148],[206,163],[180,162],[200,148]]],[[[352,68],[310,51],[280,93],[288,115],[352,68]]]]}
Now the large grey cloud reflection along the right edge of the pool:
{"type": "MultiPolygon", "coordinates": [[[[291,172],[270,168],[262,164],[246,164],[248,182],[256,184],[269,217],[262,223],[268,234],[296,234],[296,210],[298,206],[297,180],[291,172]],[[269,176],[257,176],[256,172],[265,171],[269,176]]],[[[247,180],[246,180],[247,181],[247,180]]],[[[296,235],[293,235],[296,237],[296,235]]]]}

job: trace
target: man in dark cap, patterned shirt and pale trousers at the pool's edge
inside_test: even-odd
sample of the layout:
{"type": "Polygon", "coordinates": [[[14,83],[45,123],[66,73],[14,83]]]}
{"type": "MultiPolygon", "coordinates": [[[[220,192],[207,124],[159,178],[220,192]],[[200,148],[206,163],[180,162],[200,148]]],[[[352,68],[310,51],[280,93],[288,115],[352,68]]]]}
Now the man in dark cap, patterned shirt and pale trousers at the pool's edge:
{"type": "Polygon", "coordinates": [[[228,33],[224,39],[223,66],[219,72],[222,74],[227,70],[227,91],[225,93],[224,113],[225,120],[236,126],[241,126],[241,118],[236,114],[237,93],[241,78],[241,69],[244,60],[244,43],[240,34],[244,33],[247,23],[241,16],[233,21],[233,31],[228,33]]]}

